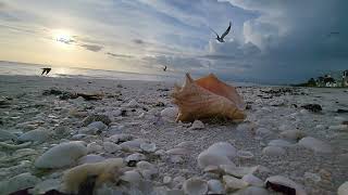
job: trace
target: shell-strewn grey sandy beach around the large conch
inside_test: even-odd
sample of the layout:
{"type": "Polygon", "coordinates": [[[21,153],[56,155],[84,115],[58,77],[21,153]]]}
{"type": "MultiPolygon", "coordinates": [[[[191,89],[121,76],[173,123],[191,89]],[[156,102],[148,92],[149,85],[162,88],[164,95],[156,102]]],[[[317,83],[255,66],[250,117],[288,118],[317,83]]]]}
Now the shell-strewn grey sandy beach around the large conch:
{"type": "MultiPolygon", "coordinates": [[[[144,194],[183,194],[183,183],[190,178],[226,183],[219,173],[198,165],[198,156],[217,142],[235,147],[232,161],[237,167],[258,166],[253,176],[262,183],[283,176],[307,194],[319,195],[336,194],[347,181],[348,113],[337,112],[348,110],[347,90],[238,87],[249,107],[245,121],[208,120],[192,126],[175,122],[173,87],[173,82],[1,75],[0,194],[23,185],[35,187],[32,191],[37,194],[60,190],[63,172],[77,165],[136,153],[141,155],[136,161],[146,160],[153,167],[150,173],[138,170],[151,186],[144,194]],[[87,101],[70,98],[70,93],[103,96],[87,101]],[[322,110],[301,107],[306,104],[319,104],[322,110]],[[57,168],[47,169],[50,162],[38,165],[47,151],[73,141],[83,141],[88,155],[83,152],[78,159],[57,168]],[[29,176],[30,182],[16,183],[21,180],[15,177],[23,176],[29,176]]],[[[251,192],[252,184],[247,185],[233,193],[251,192]]],[[[133,185],[115,183],[96,192],[108,194],[108,187],[109,194],[111,190],[137,192],[129,190],[133,185]]],[[[275,194],[264,186],[256,188],[275,194]]],[[[227,193],[223,190],[222,194],[227,193]]]]}

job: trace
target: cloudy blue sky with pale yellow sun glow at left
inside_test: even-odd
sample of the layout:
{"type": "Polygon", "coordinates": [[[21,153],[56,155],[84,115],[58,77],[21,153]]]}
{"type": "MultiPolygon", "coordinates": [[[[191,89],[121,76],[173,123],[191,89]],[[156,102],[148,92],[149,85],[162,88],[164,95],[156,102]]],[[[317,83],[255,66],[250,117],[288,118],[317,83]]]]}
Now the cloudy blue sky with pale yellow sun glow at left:
{"type": "Polygon", "coordinates": [[[0,61],[299,82],[348,69],[347,8],[347,0],[0,0],[0,61]],[[222,34],[229,22],[217,42],[210,28],[222,34]]]}

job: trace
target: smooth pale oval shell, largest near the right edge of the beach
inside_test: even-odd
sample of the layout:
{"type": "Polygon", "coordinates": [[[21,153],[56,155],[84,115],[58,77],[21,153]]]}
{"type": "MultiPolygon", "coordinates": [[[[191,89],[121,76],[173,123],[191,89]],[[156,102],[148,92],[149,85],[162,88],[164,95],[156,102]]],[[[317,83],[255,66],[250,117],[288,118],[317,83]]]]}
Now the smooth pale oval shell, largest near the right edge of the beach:
{"type": "Polygon", "coordinates": [[[302,138],[298,142],[298,145],[303,146],[309,150],[312,150],[316,153],[332,153],[333,152],[332,147],[328,144],[324,143],[321,140],[312,138],[312,136],[302,138]]]}

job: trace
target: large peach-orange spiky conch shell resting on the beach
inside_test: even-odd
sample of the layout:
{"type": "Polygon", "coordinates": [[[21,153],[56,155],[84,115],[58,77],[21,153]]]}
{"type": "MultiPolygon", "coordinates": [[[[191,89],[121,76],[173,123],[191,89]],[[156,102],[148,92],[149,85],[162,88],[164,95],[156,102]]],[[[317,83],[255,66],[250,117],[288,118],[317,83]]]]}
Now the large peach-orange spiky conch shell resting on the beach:
{"type": "Polygon", "coordinates": [[[183,87],[175,84],[173,103],[178,106],[176,121],[194,121],[211,117],[233,120],[246,118],[245,103],[237,90],[222,81],[213,74],[194,80],[186,74],[183,87]]]}

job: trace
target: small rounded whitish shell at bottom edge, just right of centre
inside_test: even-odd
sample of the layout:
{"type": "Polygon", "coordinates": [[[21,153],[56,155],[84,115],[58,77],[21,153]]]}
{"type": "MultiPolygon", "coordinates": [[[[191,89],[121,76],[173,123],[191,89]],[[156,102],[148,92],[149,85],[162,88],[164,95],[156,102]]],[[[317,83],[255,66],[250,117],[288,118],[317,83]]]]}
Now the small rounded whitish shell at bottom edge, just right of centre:
{"type": "Polygon", "coordinates": [[[208,183],[200,179],[190,178],[184,182],[183,190],[185,194],[189,195],[207,194],[208,183]]]}

